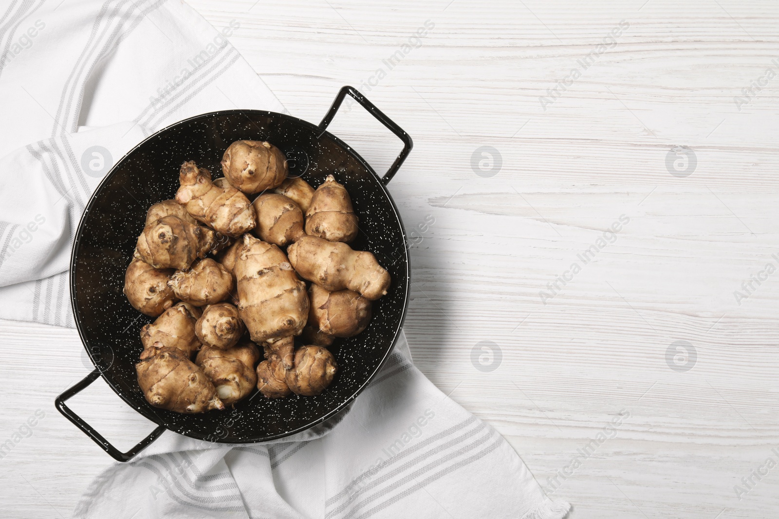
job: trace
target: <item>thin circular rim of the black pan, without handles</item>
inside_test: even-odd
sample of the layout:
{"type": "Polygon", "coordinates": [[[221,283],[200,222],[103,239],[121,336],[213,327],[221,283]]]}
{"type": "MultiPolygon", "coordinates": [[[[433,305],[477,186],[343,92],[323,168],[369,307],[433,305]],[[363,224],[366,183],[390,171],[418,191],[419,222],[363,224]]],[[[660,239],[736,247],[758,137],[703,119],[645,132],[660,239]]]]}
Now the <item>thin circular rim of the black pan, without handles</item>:
{"type": "MultiPolygon", "coordinates": [[[[395,349],[395,346],[397,345],[398,338],[400,338],[400,332],[403,330],[403,324],[406,319],[406,314],[408,310],[408,302],[411,295],[411,263],[409,261],[409,254],[408,254],[408,240],[406,236],[406,230],[403,225],[403,219],[400,218],[400,212],[397,209],[397,205],[395,205],[395,202],[392,198],[392,195],[390,195],[390,191],[387,190],[386,185],[382,182],[382,177],[379,177],[378,174],[376,174],[375,170],[368,164],[368,162],[362,158],[362,156],[357,153],[354,148],[351,146],[348,146],[344,141],[339,139],[336,135],[333,135],[330,132],[327,131],[321,131],[318,126],[315,124],[312,124],[311,122],[305,121],[304,119],[300,119],[298,117],[294,117],[288,114],[280,114],[278,112],[273,112],[270,110],[254,110],[254,109],[231,109],[231,110],[216,110],[212,112],[206,112],[203,114],[194,115],[192,117],[187,117],[186,119],[182,119],[181,121],[174,122],[172,124],[168,124],[164,128],[160,128],[160,130],[157,130],[157,132],[154,132],[153,134],[146,137],[146,139],[143,139],[141,142],[136,144],[136,146],[133,146],[132,149],[129,149],[127,153],[125,153],[121,158],[119,158],[113,167],[111,167],[111,170],[108,171],[108,173],[105,175],[105,177],[100,181],[100,184],[97,185],[97,188],[93,191],[92,195],[90,196],[89,202],[87,202],[86,206],[84,207],[83,213],[81,217],[79,218],[79,225],[76,227],[76,237],[73,240],[73,244],[71,247],[71,257],[70,257],[70,270],[69,270],[69,286],[70,286],[70,300],[71,300],[71,310],[73,313],[73,321],[76,323],[76,330],[79,333],[79,339],[81,340],[81,344],[83,345],[84,349],[86,349],[86,354],[90,357],[90,361],[95,366],[95,369],[99,371],[100,377],[108,384],[109,387],[111,387],[111,390],[115,392],[116,395],[118,395],[119,398],[122,398],[122,401],[125,402],[125,404],[129,405],[132,409],[134,409],[136,412],[138,412],[141,416],[143,416],[146,419],[149,419],[151,422],[156,423],[158,426],[164,426],[165,429],[170,430],[174,433],[181,434],[182,436],[193,438],[196,440],[203,440],[207,441],[209,443],[217,443],[217,444],[256,444],[256,443],[262,443],[267,442],[271,440],[278,440],[280,438],[290,437],[294,434],[301,433],[305,430],[309,430],[314,426],[319,425],[320,423],[326,422],[328,419],[333,418],[334,416],[337,416],[340,412],[344,412],[347,410],[349,405],[351,405],[352,402],[354,402],[354,399],[357,398],[362,391],[365,391],[365,389],[368,387],[368,385],[371,384],[372,380],[376,377],[376,375],[379,373],[379,371],[382,370],[382,367],[386,364],[387,360],[390,358],[390,355],[392,354],[393,350],[395,349]],[[291,430],[287,433],[279,433],[279,434],[272,434],[264,437],[228,437],[224,439],[224,441],[213,441],[207,439],[207,436],[209,435],[201,435],[199,433],[196,433],[192,430],[186,430],[186,432],[182,432],[182,430],[177,430],[175,428],[171,428],[171,426],[168,423],[165,423],[163,419],[160,418],[159,415],[157,415],[156,412],[153,411],[153,406],[147,403],[146,408],[140,408],[136,405],[135,402],[131,402],[129,398],[127,398],[122,391],[116,387],[114,381],[110,377],[106,377],[104,370],[101,370],[97,363],[95,362],[95,359],[93,358],[92,351],[90,349],[90,343],[86,340],[86,331],[82,328],[82,322],[81,322],[81,316],[79,315],[79,307],[78,302],[76,300],[76,258],[78,256],[79,252],[79,246],[81,243],[81,237],[83,235],[83,227],[86,224],[86,219],[89,216],[90,209],[93,207],[93,205],[97,202],[97,199],[100,198],[101,193],[106,188],[108,181],[113,177],[114,174],[116,174],[118,167],[130,156],[132,153],[136,152],[137,149],[139,149],[141,146],[146,144],[146,142],[150,141],[151,139],[157,138],[158,135],[162,134],[163,132],[166,132],[167,130],[174,128],[175,126],[178,126],[179,124],[185,124],[188,122],[200,120],[200,119],[206,119],[208,117],[217,117],[220,115],[230,115],[230,114],[240,114],[244,115],[245,117],[249,117],[249,114],[256,114],[256,115],[263,115],[263,117],[278,117],[281,119],[288,119],[290,121],[293,121],[296,124],[302,124],[304,126],[308,126],[312,132],[315,132],[314,135],[317,135],[317,139],[322,139],[323,137],[327,137],[328,139],[331,139],[333,142],[337,144],[337,146],[340,146],[341,149],[343,149],[346,153],[350,154],[355,160],[358,161],[363,167],[365,167],[366,170],[368,170],[371,174],[374,180],[377,184],[382,188],[382,192],[386,196],[386,199],[388,202],[390,202],[390,207],[392,208],[393,215],[397,218],[397,222],[400,225],[400,234],[403,238],[403,254],[401,259],[404,261],[405,265],[405,273],[406,273],[406,287],[405,287],[405,293],[404,293],[404,304],[400,312],[400,321],[398,321],[397,327],[395,328],[393,332],[393,339],[390,343],[390,347],[386,349],[386,352],[384,353],[384,356],[382,356],[382,359],[379,361],[377,366],[375,367],[375,370],[372,371],[366,377],[365,381],[358,387],[354,393],[349,397],[346,398],[343,402],[341,402],[335,409],[333,409],[330,412],[327,412],[325,415],[320,416],[317,419],[314,419],[308,423],[306,423],[304,426],[300,426],[294,430],[291,430]]],[[[400,287],[399,287],[400,288],[400,287]]]]}

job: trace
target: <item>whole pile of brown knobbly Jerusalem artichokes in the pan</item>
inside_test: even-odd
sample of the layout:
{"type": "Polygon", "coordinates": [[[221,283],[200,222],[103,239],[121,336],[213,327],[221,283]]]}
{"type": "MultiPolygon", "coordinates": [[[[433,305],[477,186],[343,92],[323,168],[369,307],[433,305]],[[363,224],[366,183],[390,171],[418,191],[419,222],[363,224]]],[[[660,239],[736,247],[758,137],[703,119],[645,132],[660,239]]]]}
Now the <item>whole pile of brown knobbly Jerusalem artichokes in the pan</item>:
{"type": "Polygon", "coordinates": [[[221,166],[212,180],[182,164],[125,272],[129,303],[156,317],[140,331],[138,384],[174,412],[224,409],[255,388],[320,395],[337,372],[328,346],[365,330],[390,286],[373,254],[348,245],[358,216],[333,175],[317,189],[287,178],[284,153],[258,141],[233,142],[221,166]]]}

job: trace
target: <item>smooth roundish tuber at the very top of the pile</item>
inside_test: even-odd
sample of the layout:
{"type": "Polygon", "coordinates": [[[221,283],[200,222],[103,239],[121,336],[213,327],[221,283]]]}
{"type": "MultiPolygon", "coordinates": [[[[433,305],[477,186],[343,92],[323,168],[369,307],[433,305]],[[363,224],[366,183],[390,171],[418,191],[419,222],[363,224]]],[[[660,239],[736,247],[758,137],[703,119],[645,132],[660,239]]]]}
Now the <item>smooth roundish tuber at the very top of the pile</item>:
{"type": "Polygon", "coordinates": [[[224,150],[222,173],[244,193],[259,193],[287,178],[287,159],[270,142],[235,141],[224,150]]]}

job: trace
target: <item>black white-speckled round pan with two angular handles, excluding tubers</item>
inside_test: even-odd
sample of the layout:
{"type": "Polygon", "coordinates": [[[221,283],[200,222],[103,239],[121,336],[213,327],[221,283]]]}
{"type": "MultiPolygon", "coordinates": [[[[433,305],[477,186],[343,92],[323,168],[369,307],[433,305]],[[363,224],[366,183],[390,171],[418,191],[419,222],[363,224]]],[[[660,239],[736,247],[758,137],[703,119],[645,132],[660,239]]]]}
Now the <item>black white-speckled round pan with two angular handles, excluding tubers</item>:
{"type": "Polygon", "coordinates": [[[226,110],[198,115],[151,135],[122,157],[100,183],[86,206],[70,269],[76,328],[95,369],[59,395],[56,405],[72,423],[118,461],[128,461],[164,430],[225,444],[274,440],[299,433],[335,416],[365,389],[397,341],[409,292],[408,248],[400,215],[385,185],[411,151],[411,138],[356,89],[344,86],[319,126],[289,115],[261,110],[226,110]],[[344,142],[326,131],[349,94],[404,142],[390,170],[379,177],[344,142]],[[373,305],[373,318],[360,335],[339,339],[332,351],[339,373],[323,395],[269,399],[256,391],[235,409],[186,415],[157,409],[143,398],[135,363],[143,347],[140,328],[152,318],[128,303],[122,288],[125,269],[143,230],[146,209],[173,198],[178,168],[195,160],[221,176],[224,150],[238,139],[266,140],[290,161],[290,175],[314,188],[327,174],[344,184],[360,218],[360,234],[351,244],[371,251],[392,275],[386,296],[373,305]],[[117,395],[157,423],[157,428],[127,452],[118,451],[65,405],[65,401],[103,377],[117,395]]]}

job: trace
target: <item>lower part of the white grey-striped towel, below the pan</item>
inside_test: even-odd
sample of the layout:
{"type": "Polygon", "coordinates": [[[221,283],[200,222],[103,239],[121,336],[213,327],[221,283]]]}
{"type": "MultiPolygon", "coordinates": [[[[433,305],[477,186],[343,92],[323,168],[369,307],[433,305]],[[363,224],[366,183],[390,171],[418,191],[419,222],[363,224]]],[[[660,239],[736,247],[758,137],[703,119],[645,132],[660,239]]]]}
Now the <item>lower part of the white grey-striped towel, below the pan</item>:
{"type": "Polygon", "coordinates": [[[546,498],[499,433],[414,367],[404,336],[340,423],[306,434],[230,447],[166,432],[100,474],[74,517],[562,519],[569,510],[546,498]]]}

